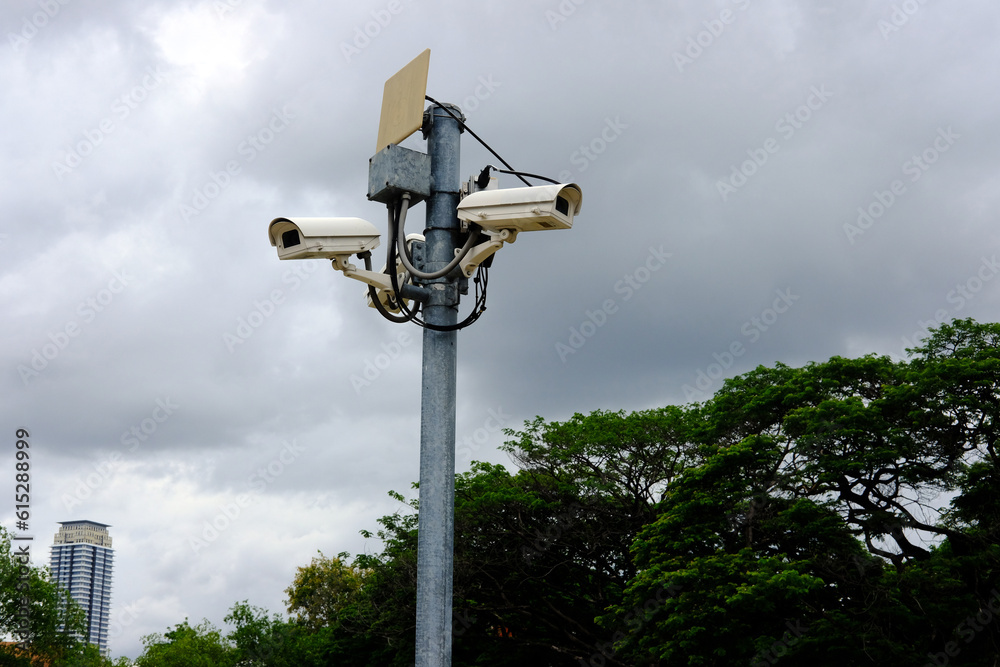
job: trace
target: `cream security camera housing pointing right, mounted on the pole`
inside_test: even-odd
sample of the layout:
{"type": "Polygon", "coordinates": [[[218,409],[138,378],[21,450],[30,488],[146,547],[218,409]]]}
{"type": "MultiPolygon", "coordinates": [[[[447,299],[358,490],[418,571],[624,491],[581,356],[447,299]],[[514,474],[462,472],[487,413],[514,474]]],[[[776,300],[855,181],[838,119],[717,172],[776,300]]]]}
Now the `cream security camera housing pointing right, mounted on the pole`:
{"type": "Polygon", "coordinates": [[[489,231],[569,229],[582,204],[576,183],[481,190],[459,202],[458,217],[489,231]]]}

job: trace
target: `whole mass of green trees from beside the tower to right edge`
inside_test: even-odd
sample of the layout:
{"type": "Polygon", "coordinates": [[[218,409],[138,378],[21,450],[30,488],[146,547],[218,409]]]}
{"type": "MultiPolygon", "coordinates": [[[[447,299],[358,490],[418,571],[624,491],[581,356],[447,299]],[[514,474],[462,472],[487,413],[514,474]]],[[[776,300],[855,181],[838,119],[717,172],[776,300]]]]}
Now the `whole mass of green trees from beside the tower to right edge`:
{"type": "MultiPolygon", "coordinates": [[[[454,664],[995,667],[998,343],[956,320],[904,362],[506,431],[517,471],[455,480],[454,664]]],[[[137,665],[412,664],[419,505],[390,495],[381,552],[300,567],[291,619],[239,603],[137,665]]]]}

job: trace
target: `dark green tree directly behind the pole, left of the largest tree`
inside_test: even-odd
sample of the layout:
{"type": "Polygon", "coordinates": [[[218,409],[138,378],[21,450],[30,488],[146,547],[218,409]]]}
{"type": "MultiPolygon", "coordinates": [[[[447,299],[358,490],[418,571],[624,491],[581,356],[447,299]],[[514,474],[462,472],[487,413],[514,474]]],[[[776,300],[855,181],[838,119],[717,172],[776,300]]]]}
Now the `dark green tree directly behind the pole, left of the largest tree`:
{"type": "MultiPolygon", "coordinates": [[[[475,463],[456,477],[456,664],[601,654],[609,636],[595,617],[635,574],[629,546],[660,494],[696,462],[690,427],[680,408],[538,418],[508,431],[519,472],[475,463]]],[[[383,664],[409,664],[413,652],[419,504],[409,507],[380,520],[383,552],[356,562],[369,573],[359,618],[392,656],[383,664]]]]}

